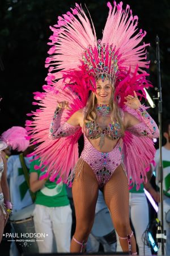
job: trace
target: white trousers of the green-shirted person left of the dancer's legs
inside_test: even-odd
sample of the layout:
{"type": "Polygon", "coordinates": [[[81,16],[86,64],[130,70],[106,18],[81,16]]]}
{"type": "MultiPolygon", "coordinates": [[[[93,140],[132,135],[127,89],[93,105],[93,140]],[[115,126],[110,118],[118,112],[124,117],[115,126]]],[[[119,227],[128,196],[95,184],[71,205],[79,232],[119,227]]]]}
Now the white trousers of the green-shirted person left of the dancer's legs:
{"type": "Polygon", "coordinates": [[[45,207],[36,204],[33,212],[36,233],[45,233],[44,242],[39,241],[39,253],[69,253],[71,242],[72,213],[70,205],[64,207],[45,207]]]}

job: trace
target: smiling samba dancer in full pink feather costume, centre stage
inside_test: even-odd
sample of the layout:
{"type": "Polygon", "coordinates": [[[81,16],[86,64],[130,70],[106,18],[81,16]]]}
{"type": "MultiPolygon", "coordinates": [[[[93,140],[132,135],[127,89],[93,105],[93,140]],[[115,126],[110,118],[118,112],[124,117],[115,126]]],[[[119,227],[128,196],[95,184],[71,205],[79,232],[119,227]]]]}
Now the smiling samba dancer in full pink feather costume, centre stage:
{"type": "Polygon", "coordinates": [[[41,158],[40,167],[48,167],[44,177],[50,174],[54,181],[59,175],[57,183],[70,186],[74,178],[76,230],[71,252],[84,251],[100,187],[123,251],[137,254],[129,224],[128,180],[131,177],[137,188],[146,181],[155,152],[152,138],[159,133],[137,97],[139,90],[145,96],[143,88],[150,86],[142,69],[148,67],[148,44],[138,46],[146,32],[134,35],[138,17],[132,16],[128,5],[122,10],[122,2],[114,1],[114,8],[111,3],[108,7],[103,38],[98,41],[78,4],[71,9],[73,14],[58,18],[50,36],[52,56],[46,59],[46,67],[52,64],[48,85],[43,87],[45,93],[36,92],[41,108],[27,126],[34,143],[41,143],[34,154],[41,158]],[[82,131],[84,150],[78,160],[82,131]]]}

